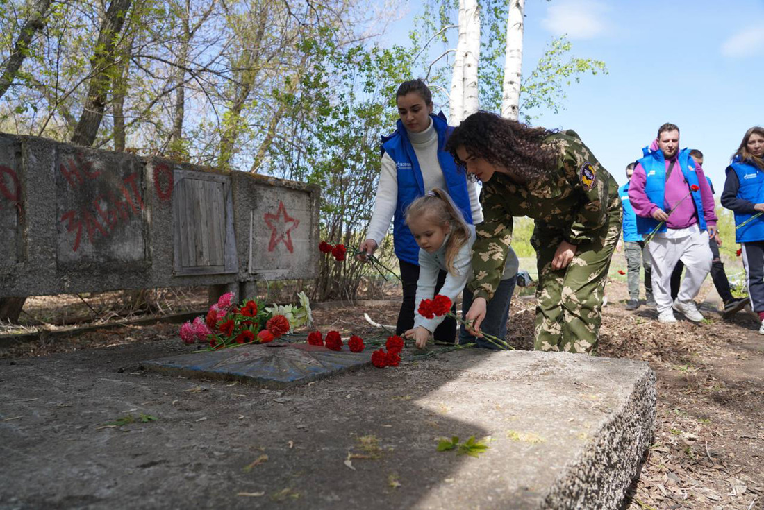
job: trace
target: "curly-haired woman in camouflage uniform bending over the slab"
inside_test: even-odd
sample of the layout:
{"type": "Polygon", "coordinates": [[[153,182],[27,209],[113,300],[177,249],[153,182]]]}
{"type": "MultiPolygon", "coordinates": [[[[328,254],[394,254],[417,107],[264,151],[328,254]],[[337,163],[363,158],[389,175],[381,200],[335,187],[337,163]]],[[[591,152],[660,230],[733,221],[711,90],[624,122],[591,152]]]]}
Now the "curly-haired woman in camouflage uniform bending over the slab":
{"type": "Polygon", "coordinates": [[[484,222],[472,254],[480,331],[500,282],[513,216],[536,220],[536,350],[596,353],[607,270],[621,230],[618,184],[575,131],[555,133],[485,111],[456,127],[447,149],[483,182],[484,222]]]}

